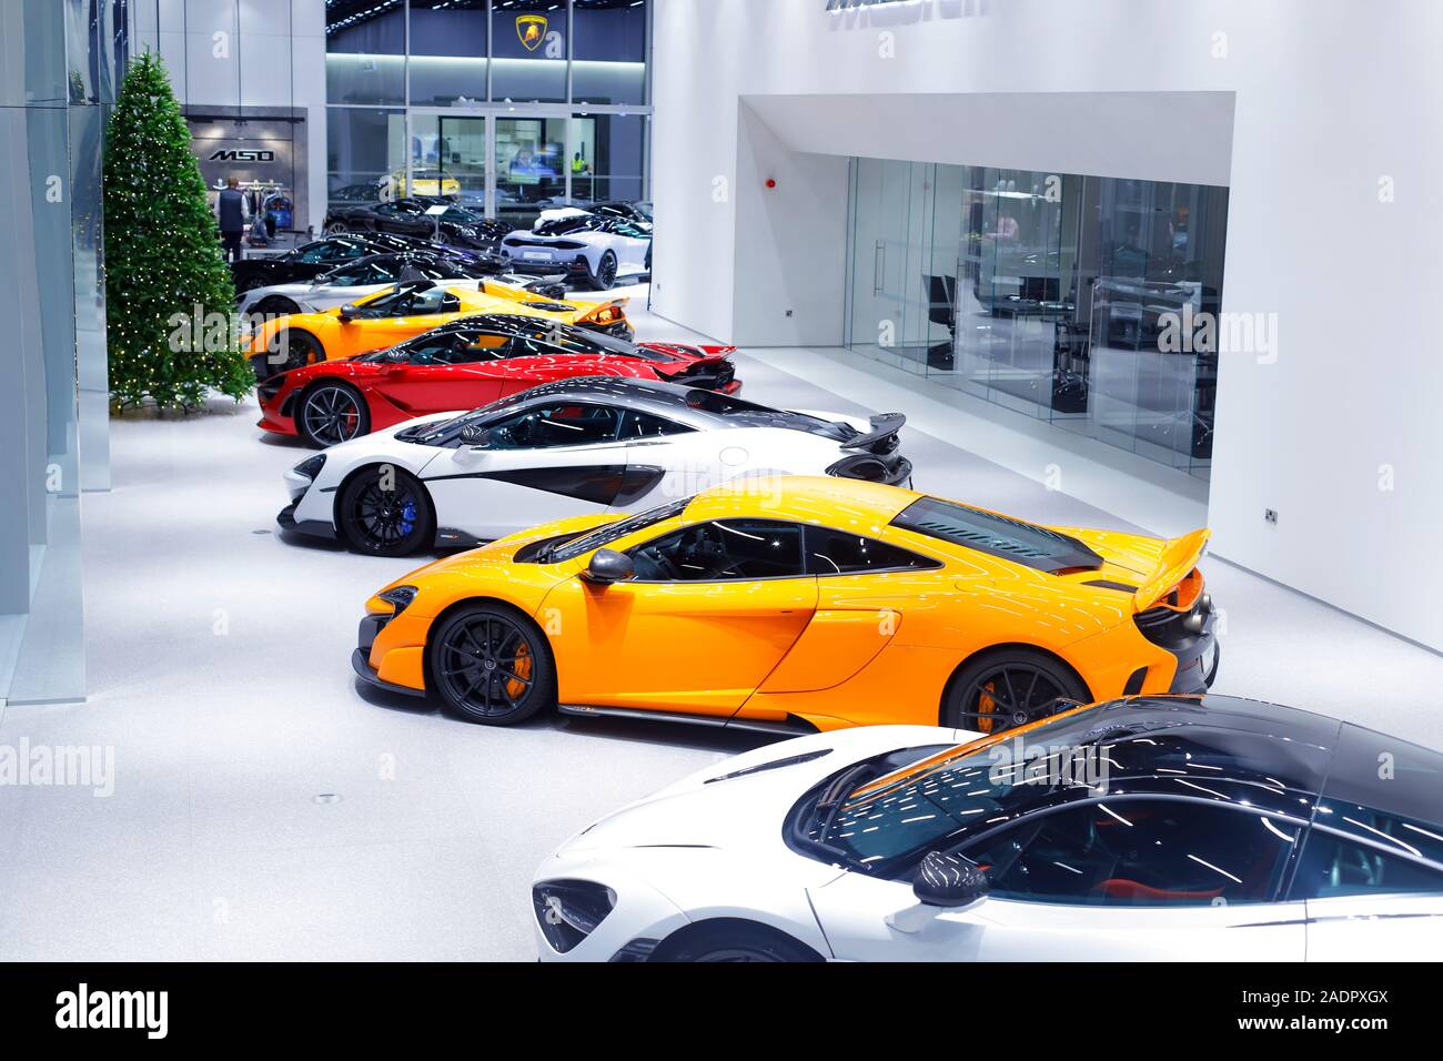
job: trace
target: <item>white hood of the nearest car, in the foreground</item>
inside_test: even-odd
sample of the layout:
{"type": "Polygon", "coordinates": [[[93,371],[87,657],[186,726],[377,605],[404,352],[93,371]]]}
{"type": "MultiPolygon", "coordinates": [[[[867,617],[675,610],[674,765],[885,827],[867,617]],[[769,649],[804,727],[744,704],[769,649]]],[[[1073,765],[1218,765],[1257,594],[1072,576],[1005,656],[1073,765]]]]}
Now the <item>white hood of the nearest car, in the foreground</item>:
{"type": "Polygon", "coordinates": [[[558,855],[629,847],[775,849],[784,843],[788,811],[823,778],[879,752],[977,736],[937,726],[860,726],[766,745],[623,807],[567,840],[558,855]],[[825,754],[734,777],[812,752],[825,754]]]}

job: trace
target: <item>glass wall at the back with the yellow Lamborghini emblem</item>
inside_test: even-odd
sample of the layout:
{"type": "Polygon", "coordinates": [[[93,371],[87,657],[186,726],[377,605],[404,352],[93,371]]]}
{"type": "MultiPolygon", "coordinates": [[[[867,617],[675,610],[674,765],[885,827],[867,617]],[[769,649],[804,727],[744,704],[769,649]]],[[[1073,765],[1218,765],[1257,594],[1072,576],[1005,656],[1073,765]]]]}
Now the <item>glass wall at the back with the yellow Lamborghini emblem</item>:
{"type": "Polygon", "coordinates": [[[333,202],[645,199],[649,0],[330,0],[333,202]]]}

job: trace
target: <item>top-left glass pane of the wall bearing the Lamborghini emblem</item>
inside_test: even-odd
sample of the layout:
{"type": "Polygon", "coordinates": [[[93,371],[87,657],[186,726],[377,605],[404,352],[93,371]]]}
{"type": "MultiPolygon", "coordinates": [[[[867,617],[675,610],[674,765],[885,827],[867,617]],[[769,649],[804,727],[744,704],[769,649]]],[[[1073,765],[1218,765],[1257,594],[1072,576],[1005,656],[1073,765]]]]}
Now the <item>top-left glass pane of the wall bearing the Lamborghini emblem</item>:
{"type": "Polygon", "coordinates": [[[405,102],[403,0],[326,3],[326,101],[405,102]]]}

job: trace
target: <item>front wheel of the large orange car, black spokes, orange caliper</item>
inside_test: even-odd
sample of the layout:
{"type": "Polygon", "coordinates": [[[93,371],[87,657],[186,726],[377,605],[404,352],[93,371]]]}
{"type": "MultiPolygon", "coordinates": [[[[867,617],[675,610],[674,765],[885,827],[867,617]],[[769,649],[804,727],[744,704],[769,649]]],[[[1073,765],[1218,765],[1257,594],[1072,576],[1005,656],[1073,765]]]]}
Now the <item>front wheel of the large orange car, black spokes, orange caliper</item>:
{"type": "Polygon", "coordinates": [[[551,647],[515,608],[478,601],[434,624],[426,641],[427,687],[452,715],[514,726],[556,707],[551,647]]]}

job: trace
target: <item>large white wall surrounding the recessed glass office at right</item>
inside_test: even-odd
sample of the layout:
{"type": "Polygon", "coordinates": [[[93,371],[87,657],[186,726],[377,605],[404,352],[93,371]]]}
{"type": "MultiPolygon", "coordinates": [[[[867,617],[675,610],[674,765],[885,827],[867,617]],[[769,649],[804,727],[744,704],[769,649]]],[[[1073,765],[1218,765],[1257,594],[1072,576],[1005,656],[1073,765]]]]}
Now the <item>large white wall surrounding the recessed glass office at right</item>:
{"type": "MultiPolygon", "coordinates": [[[[1443,492],[1433,432],[1443,362],[1431,326],[1443,283],[1434,205],[1443,172],[1443,68],[1434,55],[1443,4],[922,0],[847,16],[824,7],[825,0],[657,0],[655,309],[723,339],[788,341],[776,322],[779,296],[743,277],[798,261],[812,238],[810,219],[843,212],[844,193],[825,183],[807,217],[779,217],[760,202],[755,178],[791,166],[825,169],[798,162],[798,143],[837,154],[857,153],[859,144],[831,107],[786,101],[769,111],[766,97],[1017,94],[1014,110],[988,100],[1001,111],[991,111],[1000,117],[984,128],[938,120],[935,108],[924,108],[925,120],[915,108],[883,110],[886,123],[866,123],[861,153],[915,157],[908,152],[925,134],[939,146],[928,156],[935,160],[1020,165],[958,157],[970,154],[970,143],[1001,150],[999,130],[1010,127],[1032,169],[1095,173],[1126,156],[1173,175],[1166,179],[1206,182],[1216,178],[1218,117],[1201,97],[1177,111],[1159,105],[1166,98],[1157,94],[1224,94],[1231,124],[1224,309],[1276,315],[1278,344],[1270,364],[1222,357],[1215,549],[1443,650],[1443,609],[1434,602],[1443,589],[1436,563],[1443,492]],[[893,35],[892,58],[883,33],[893,35]],[[1225,35],[1225,55],[1216,35],[1225,35]],[[1049,152],[1035,136],[1030,97],[1076,92],[1137,94],[1126,104],[1136,127],[1118,128],[1111,110],[1084,110],[1066,123],[1075,136],[1049,152]],[[771,120],[771,137],[745,136],[743,98],[771,120]],[[808,130],[791,144],[773,114],[784,108],[808,130]],[[747,141],[740,152],[739,136],[747,141]],[[1094,162],[1078,166],[1088,141],[1094,162]],[[713,193],[717,178],[729,182],[722,201],[713,193]],[[1380,202],[1384,178],[1394,182],[1392,202],[1380,202]],[[1380,489],[1390,469],[1392,489],[1380,489]],[[1277,525],[1264,521],[1266,508],[1280,512],[1277,525]]],[[[825,240],[830,245],[831,235],[825,240]]],[[[785,289],[788,300],[805,294],[798,283],[785,289]]]]}

